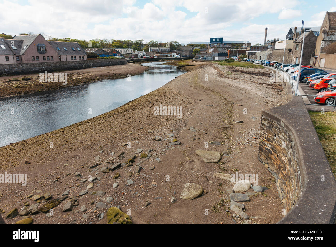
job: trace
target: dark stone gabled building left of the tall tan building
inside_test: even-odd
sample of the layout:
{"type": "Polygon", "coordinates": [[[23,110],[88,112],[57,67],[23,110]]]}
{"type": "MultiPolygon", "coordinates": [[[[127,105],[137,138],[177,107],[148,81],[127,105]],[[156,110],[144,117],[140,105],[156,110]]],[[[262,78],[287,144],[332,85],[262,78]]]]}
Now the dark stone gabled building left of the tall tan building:
{"type": "Polygon", "coordinates": [[[317,37],[312,31],[304,32],[304,34],[301,34],[296,40],[294,40],[294,43],[293,43],[294,48],[292,50],[292,63],[293,64],[298,64],[300,62],[303,35],[305,35],[305,38],[304,38],[304,49],[302,53],[301,64],[309,65],[311,55],[315,51],[317,37]]]}

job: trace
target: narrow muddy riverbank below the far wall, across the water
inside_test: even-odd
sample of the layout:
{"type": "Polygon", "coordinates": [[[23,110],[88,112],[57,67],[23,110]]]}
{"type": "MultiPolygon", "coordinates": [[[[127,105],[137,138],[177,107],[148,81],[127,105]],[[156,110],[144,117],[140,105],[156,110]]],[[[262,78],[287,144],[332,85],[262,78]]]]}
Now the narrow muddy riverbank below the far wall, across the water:
{"type": "Polygon", "coordinates": [[[82,70],[60,71],[67,73],[67,84],[59,82],[40,82],[39,74],[27,74],[21,76],[0,77],[0,99],[20,94],[56,90],[59,88],[93,83],[103,79],[117,79],[127,77],[127,75],[137,75],[147,70],[138,64],[127,63],[126,65],[116,65],[107,67],[94,67],[82,70]],[[30,80],[22,80],[29,78],[30,80]]]}

